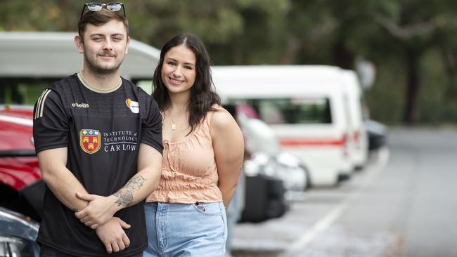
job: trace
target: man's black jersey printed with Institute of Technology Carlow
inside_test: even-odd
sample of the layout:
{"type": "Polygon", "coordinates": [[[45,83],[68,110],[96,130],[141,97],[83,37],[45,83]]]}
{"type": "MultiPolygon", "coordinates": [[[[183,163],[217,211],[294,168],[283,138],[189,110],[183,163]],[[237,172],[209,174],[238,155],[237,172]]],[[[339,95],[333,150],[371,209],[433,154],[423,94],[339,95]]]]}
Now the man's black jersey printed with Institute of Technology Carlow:
{"type": "MultiPolygon", "coordinates": [[[[34,107],[36,152],[67,147],[67,169],[89,194],[117,192],[137,172],[140,143],[162,153],[162,117],[157,103],[122,79],[110,93],[91,91],[77,74],[54,83],[34,107]]],[[[143,202],[115,213],[131,225],[130,246],[109,256],[129,256],[146,248],[143,202]]],[[[108,256],[96,231],[81,223],[46,187],[37,242],[75,256],[108,256]]]]}

